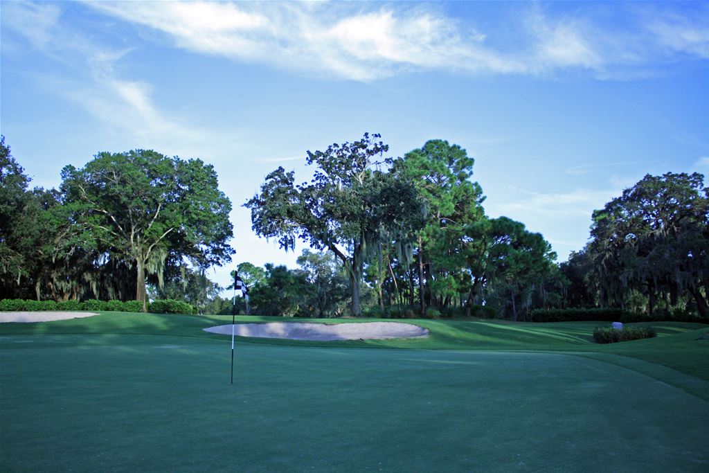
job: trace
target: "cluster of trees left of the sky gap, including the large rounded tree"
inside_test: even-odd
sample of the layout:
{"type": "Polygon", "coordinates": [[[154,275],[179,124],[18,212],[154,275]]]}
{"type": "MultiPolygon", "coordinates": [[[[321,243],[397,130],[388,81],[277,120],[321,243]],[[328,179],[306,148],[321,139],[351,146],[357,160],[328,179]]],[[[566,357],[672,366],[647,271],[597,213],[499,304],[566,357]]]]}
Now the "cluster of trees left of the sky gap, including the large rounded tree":
{"type": "Polygon", "coordinates": [[[0,143],[0,298],[141,301],[228,262],[229,199],[199,159],[100,152],[35,187],[0,143]]]}

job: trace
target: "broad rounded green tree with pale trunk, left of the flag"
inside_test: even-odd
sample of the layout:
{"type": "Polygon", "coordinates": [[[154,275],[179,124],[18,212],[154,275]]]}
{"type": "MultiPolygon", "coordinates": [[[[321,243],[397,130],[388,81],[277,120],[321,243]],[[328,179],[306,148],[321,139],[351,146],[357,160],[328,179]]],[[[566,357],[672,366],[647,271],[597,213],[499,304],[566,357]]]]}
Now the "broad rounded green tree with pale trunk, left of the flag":
{"type": "Polygon", "coordinates": [[[152,150],[101,152],[81,169],[62,169],[61,190],[77,235],[87,247],[128,262],[135,300],[144,307],[146,275],[162,273],[169,256],[206,267],[233,253],[230,201],[201,160],[152,150]]]}

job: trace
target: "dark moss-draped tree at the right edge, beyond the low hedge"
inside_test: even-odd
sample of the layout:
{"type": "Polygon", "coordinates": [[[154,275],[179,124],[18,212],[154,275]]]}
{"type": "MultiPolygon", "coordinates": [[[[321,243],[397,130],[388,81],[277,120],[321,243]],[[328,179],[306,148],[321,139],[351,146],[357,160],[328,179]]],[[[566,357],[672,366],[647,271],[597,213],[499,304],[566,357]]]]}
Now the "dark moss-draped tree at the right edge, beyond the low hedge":
{"type": "Polygon", "coordinates": [[[628,291],[647,296],[649,313],[681,292],[709,317],[709,188],[699,173],[647,174],[593,212],[588,252],[601,303],[623,306],[628,291]]]}

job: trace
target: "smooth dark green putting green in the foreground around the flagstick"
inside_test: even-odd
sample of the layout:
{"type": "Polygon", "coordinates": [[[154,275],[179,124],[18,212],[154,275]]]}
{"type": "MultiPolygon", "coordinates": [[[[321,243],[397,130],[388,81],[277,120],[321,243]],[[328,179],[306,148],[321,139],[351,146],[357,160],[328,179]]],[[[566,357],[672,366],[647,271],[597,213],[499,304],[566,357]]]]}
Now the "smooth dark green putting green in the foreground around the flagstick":
{"type": "Polygon", "coordinates": [[[709,469],[709,403],[618,355],[229,347],[2,336],[2,469],[709,469]]]}

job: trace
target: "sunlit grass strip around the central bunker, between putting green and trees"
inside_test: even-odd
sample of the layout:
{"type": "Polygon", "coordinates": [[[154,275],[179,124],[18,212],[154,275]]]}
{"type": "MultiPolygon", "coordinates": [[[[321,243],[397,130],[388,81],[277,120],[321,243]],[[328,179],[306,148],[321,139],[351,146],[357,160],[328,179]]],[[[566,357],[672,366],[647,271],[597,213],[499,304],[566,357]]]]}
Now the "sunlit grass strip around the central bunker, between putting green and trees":
{"type": "MultiPolygon", "coordinates": [[[[316,321],[324,323],[366,323],[377,319],[289,319],[237,316],[237,322],[316,321]]],[[[698,377],[709,382],[709,325],[683,322],[654,322],[658,337],[650,340],[599,345],[593,343],[593,329],[604,322],[516,323],[508,321],[403,321],[430,330],[430,337],[398,340],[351,340],[345,342],[303,342],[241,338],[240,343],[320,347],[378,347],[420,350],[535,350],[593,352],[623,355],[698,377]],[[701,338],[698,340],[698,338],[701,338]]],[[[52,323],[4,323],[0,334],[143,334],[224,340],[224,335],[202,328],[231,323],[231,316],[176,316],[152,313],[104,312],[89,318],[52,323]]],[[[695,392],[695,394],[697,394],[695,392]]],[[[709,399],[709,389],[701,394],[709,399]]]]}

